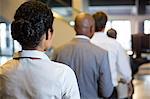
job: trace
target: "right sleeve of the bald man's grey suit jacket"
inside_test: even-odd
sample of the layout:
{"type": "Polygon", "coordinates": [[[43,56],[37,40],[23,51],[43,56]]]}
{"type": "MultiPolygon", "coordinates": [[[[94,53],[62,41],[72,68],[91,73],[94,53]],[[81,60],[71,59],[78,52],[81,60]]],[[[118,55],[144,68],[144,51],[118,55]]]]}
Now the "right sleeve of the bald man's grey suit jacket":
{"type": "Polygon", "coordinates": [[[108,53],[103,55],[99,69],[99,94],[102,97],[110,97],[113,92],[108,53]]]}

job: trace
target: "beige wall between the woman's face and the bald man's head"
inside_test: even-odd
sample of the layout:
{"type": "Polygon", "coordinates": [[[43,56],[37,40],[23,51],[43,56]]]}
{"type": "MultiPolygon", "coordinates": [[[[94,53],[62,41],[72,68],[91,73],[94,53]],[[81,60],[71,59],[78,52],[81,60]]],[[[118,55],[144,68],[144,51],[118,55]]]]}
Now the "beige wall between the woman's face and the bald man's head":
{"type": "Polygon", "coordinates": [[[68,42],[74,35],[74,28],[69,26],[67,22],[57,18],[54,20],[54,38],[52,44],[54,48],[68,42]]]}

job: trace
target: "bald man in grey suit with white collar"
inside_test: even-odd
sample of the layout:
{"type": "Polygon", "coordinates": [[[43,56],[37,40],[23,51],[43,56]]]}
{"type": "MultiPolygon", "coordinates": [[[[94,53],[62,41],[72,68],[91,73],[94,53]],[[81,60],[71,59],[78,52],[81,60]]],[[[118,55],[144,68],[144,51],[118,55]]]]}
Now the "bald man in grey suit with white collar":
{"type": "Polygon", "coordinates": [[[80,13],[75,18],[76,36],[54,51],[53,60],[69,65],[76,74],[81,99],[109,97],[113,92],[107,51],[90,43],[94,19],[80,13]]]}

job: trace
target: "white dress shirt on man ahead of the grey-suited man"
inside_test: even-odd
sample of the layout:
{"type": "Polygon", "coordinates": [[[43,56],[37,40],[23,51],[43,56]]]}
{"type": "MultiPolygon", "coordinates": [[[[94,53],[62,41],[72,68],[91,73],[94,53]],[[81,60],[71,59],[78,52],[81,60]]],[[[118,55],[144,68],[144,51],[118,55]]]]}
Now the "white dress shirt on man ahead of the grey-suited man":
{"type": "Polygon", "coordinates": [[[129,58],[122,46],[115,39],[109,38],[101,32],[96,32],[91,42],[108,51],[113,85],[117,86],[120,78],[130,82],[132,79],[131,67],[129,58]]]}

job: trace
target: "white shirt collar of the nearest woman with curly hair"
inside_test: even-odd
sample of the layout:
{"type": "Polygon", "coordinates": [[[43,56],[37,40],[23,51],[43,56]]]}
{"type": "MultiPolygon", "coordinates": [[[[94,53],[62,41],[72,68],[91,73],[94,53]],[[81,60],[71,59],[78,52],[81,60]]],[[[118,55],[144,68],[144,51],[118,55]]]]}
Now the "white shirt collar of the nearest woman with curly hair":
{"type": "Polygon", "coordinates": [[[13,56],[13,58],[19,58],[19,57],[31,57],[31,58],[50,60],[44,52],[37,51],[37,50],[22,50],[20,52],[15,53],[13,56]]]}

